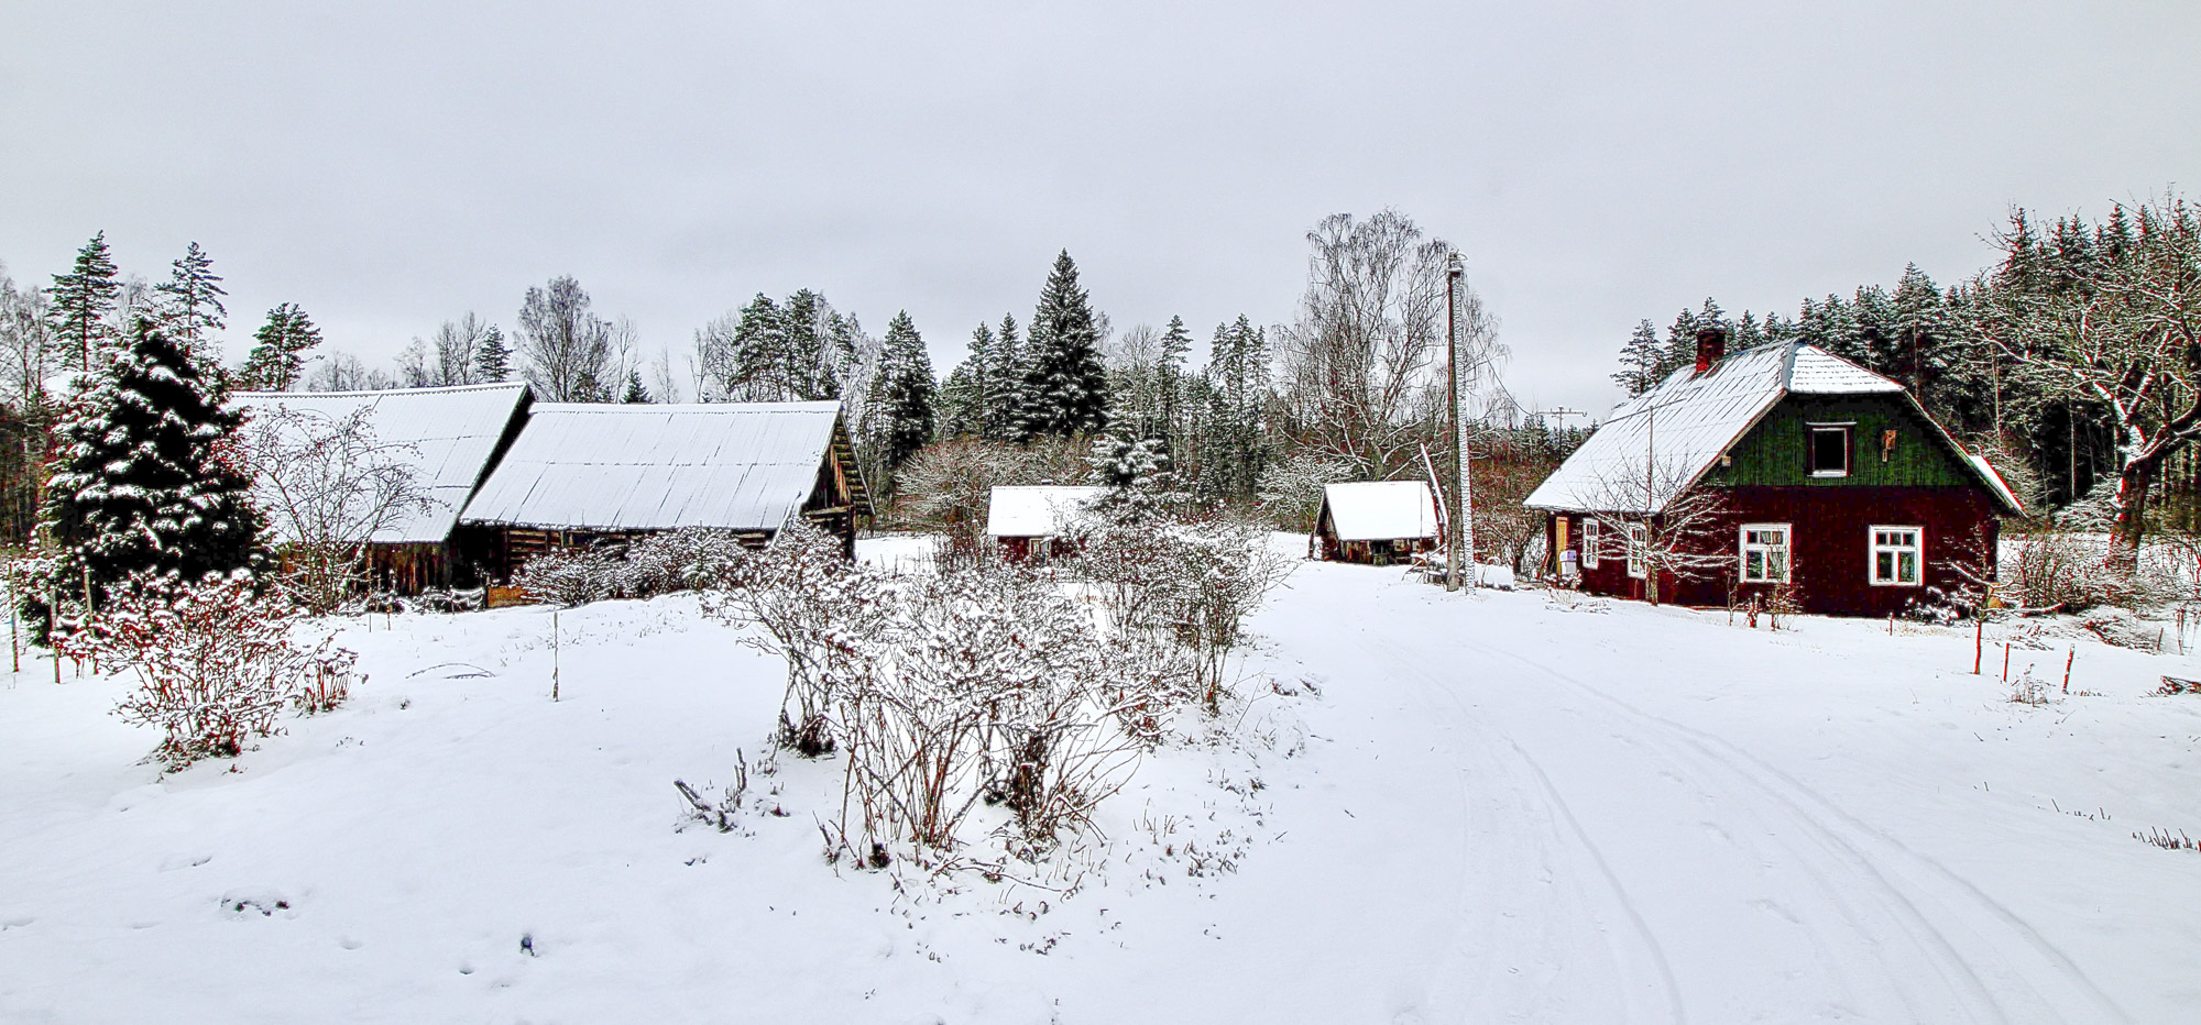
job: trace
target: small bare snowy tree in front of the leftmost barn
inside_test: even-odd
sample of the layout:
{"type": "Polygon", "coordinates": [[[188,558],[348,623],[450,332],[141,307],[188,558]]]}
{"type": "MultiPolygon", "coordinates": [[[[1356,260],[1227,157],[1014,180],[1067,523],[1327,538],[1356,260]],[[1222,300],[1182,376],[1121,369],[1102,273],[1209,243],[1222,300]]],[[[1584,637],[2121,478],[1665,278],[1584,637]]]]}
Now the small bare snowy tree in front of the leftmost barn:
{"type": "Polygon", "coordinates": [[[266,409],[251,420],[253,491],[280,537],[284,585],[321,614],[363,581],[379,530],[429,506],[414,449],[374,436],[365,409],[266,409]]]}

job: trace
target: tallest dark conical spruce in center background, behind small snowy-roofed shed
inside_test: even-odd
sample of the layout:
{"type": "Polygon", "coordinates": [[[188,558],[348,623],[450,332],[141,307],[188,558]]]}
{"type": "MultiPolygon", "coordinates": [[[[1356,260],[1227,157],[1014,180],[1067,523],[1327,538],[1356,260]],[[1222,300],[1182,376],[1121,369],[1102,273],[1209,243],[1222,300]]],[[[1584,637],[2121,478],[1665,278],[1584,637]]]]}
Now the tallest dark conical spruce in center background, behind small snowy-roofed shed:
{"type": "Polygon", "coordinates": [[[1070,438],[1107,425],[1107,365],[1078,264],[1065,249],[1039,293],[1023,359],[1019,438],[1070,438]]]}

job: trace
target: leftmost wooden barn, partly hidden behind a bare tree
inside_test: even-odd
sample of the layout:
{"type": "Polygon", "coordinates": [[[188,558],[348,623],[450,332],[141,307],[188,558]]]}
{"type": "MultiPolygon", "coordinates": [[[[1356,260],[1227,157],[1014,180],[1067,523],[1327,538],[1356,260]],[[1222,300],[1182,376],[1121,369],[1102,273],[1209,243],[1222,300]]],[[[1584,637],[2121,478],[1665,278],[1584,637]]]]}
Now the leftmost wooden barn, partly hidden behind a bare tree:
{"type": "MultiPolygon", "coordinates": [[[[392,392],[236,392],[247,416],[284,433],[326,433],[361,414],[374,444],[414,473],[425,502],[403,510],[368,543],[368,585],[418,594],[478,583],[491,559],[458,528],[460,510],[513,444],[533,396],[526,385],[407,387],[392,392]]],[[[269,482],[260,482],[266,491],[269,482]]],[[[262,493],[262,502],[273,497],[262,493]]]]}

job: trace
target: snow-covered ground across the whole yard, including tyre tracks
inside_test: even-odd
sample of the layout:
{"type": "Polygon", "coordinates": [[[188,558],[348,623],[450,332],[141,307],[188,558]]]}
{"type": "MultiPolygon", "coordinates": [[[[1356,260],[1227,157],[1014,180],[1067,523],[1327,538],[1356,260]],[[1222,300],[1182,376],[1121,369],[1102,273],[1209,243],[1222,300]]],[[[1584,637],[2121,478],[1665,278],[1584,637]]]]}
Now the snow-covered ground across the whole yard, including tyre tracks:
{"type": "Polygon", "coordinates": [[[755,763],[781,680],[693,598],[561,611],[555,704],[548,609],[394,627],[348,627],[350,706],[172,776],[121,682],[0,684],[0,1021],[2201,1007],[2201,853],[2131,836],[2201,831],[2201,697],[2148,695],[2201,658],[2051,633],[2012,673],[2076,647],[2073,695],[2018,706],[1959,629],[1303,565],[1255,622],[1285,693],[1149,757],[1061,895],[828,867],[832,763],[682,827],[671,781],[755,763]]]}

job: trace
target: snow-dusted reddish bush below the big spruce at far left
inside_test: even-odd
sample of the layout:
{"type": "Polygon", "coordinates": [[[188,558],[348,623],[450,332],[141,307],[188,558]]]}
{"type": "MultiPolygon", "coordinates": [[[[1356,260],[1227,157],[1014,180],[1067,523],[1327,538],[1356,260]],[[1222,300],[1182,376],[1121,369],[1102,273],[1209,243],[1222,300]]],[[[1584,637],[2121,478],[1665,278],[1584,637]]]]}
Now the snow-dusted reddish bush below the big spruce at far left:
{"type": "Polygon", "coordinates": [[[299,647],[293,625],[302,616],[282,594],[255,594],[244,572],[200,583],[141,574],[114,587],[84,629],[62,636],[59,651],[130,671],[139,686],[114,713],[161,726],[156,757],[183,768],[242,752],[249,737],[275,730],[284,706],[310,713],[343,699],[357,655],[328,638],[299,647]]]}

